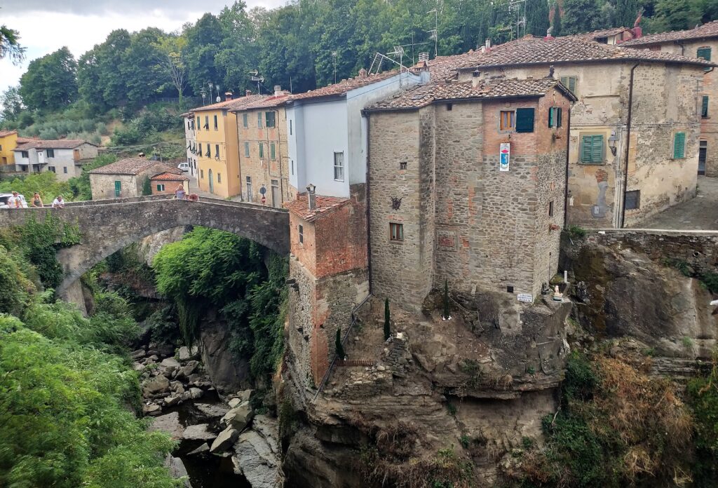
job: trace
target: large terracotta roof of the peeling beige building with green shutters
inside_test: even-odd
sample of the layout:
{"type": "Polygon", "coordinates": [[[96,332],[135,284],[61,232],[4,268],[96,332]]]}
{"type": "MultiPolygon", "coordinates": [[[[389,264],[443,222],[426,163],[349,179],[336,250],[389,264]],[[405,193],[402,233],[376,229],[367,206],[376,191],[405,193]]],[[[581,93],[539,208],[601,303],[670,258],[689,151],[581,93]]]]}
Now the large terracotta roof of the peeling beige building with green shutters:
{"type": "Polygon", "coordinates": [[[448,60],[454,69],[508,65],[547,65],[561,62],[646,61],[671,62],[711,66],[712,63],[668,52],[638,50],[622,47],[628,44],[601,44],[583,35],[556,37],[526,36],[516,41],[492,47],[488,52],[475,51],[448,60]]]}

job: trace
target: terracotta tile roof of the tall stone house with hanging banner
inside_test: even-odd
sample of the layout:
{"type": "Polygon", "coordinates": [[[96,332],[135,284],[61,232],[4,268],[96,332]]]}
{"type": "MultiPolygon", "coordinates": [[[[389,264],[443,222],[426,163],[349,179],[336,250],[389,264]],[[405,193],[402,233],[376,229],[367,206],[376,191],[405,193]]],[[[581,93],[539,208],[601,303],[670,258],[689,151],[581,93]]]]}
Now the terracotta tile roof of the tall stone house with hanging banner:
{"type": "Polygon", "coordinates": [[[555,80],[554,78],[539,78],[535,80],[490,78],[477,86],[474,86],[470,81],[460,83],[452,80],[421,85],[398,93],[392,98],[382,100],[367,110],[415,109],[425,107],[437,100],[541,97],[554,87],[558,87],[562,90],[569,99],[575,100],[574,95],[566,90],[559,80],[555,80]]]}

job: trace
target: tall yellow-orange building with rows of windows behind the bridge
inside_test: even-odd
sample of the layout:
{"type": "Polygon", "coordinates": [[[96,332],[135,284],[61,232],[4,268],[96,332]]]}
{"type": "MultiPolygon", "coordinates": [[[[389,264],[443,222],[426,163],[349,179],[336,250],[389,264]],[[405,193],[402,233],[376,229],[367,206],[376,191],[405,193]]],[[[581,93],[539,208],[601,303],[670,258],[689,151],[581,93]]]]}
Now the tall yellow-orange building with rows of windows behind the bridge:
{"type": "Polygon", "coordinates": [[[259,95],[246,95],[192,110],[195,116],[195,154],[199,174],[197,183],[203,192],[219,198],[241,194],[237,117],[231,112],[259,95]]]}

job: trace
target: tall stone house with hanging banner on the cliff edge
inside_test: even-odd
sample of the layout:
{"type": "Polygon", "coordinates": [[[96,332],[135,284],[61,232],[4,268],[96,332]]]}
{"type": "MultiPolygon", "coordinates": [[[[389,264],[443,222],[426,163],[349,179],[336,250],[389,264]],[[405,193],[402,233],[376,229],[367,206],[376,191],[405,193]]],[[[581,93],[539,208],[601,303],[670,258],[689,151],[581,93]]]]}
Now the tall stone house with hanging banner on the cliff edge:
{"type": "Polygon", "coordinates": [[[554,78],[493,78],[368,108],[372,294],[418,310],[447,280],[532,301],[558,267],[575,100],[554,78]]]}

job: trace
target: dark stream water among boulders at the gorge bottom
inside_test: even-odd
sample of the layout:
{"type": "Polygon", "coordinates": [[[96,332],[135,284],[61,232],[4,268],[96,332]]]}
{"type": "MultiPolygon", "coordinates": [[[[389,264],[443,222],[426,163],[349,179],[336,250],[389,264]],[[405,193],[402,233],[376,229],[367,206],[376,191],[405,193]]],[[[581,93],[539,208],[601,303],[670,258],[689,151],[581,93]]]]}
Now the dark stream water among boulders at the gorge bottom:
{"type": "MultiPolygon", "coordinates": [[[[205,391],[205,395],[197,400],[198,403],[215,405],[220,403],[216,392],[205,391]]],[[[208,423],[213,431],[219,431],[219,418],[210,418],[195,407],[194,400],[182,403],[167,413],[175,411],[180,416],[182,426],[192,426],[197,423],[208,423]]],[[[215,454],[188,453],[201,446],[204,441],[180,441],[180,445],[172,453],[182,459],[190,476],[192,488],[251,488],[251,484],[241,474],[234,473],[234,465],[230,456],[221,457],[215,454]]],[[[212,444],[211,441],[208,444],[212,444]]]]}

